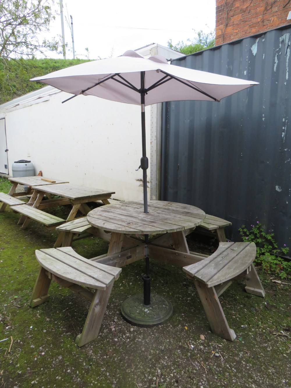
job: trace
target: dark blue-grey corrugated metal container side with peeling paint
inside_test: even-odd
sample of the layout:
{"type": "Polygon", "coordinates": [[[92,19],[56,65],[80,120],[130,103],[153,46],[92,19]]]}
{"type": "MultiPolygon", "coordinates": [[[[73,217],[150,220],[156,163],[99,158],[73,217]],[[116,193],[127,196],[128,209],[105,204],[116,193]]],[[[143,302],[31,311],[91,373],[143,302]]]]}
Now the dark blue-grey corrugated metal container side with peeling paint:
{"type": "Polygon", "coordinates": [[[275,29],[172,62],[260,82],[219,103],[163,104],[161,199],[231,221],[234,240],[242,224],[260,221],[291,246],[290,33],[275,29]]]}

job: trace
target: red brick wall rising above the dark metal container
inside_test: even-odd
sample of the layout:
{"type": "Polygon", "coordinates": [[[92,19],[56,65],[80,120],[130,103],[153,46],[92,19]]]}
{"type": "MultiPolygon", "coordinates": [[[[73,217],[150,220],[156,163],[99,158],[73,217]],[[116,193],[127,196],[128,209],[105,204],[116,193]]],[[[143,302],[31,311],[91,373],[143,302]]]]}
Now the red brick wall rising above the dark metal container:
{"type": "Polygon", "coordinates": [[[291,24],[291,0],[216,0],[215,45],[291,24]]]}

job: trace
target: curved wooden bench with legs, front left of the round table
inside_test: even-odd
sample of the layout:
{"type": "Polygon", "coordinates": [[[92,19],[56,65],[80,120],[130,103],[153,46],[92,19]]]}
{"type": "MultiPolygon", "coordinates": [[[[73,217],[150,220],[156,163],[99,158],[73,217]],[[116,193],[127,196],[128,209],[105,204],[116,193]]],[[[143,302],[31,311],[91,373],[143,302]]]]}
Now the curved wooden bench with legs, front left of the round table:
{"type": "Polygon", "coordinates": [[[78,255],[71,247],[41,249],[35,251],[35,256],[40,263],[40,272],[29,305],[35,307],[47,301],[50,282],[57,282],[91,301],[76,344],[83,346],[97,338],[111,289],[121,268],[95,263],[78,255]],[[95,289],[95,292],[87,287],[95,289]]]}

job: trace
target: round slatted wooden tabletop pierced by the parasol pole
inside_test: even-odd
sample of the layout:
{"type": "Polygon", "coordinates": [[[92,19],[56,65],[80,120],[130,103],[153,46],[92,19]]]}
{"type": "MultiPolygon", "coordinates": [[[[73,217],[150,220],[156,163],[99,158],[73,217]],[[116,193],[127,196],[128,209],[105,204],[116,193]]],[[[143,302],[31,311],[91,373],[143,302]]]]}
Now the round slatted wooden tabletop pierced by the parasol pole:
{"type": "Polygon", "coordinates": [[[194,228],[205,213],[195,206],[166,201],[149,201],[144,213],[143,201],[121,202],[91,210],[88,222],[97,228],[119,233],[156,234],[194,228]]]}

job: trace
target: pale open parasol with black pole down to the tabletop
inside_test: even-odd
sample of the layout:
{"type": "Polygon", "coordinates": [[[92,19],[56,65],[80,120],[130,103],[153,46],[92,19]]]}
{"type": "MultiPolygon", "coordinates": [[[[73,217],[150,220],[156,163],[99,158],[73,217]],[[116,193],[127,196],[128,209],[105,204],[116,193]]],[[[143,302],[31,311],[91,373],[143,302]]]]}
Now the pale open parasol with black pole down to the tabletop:
{"type": "MultiPolygon", "coordinates": [[[[31,81],[47,83],[76,95],[95,95],[107,100],[141,106],[144,212],[147,213],[145,106],[164,101],[220,101],[257,82],[222,76],[168,64],[161,55],[144,58],[135,51],[111,59],[86,62],[31,81]]],[[[71,98],[73,98],[71,97],[71,98]]],[[[69,99],[68,99],[69,100],[69,99]]],[[[66,101],[68,101],[66,100],[66,101]]]]}

